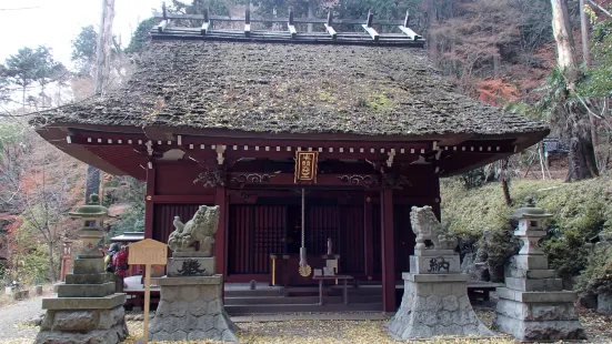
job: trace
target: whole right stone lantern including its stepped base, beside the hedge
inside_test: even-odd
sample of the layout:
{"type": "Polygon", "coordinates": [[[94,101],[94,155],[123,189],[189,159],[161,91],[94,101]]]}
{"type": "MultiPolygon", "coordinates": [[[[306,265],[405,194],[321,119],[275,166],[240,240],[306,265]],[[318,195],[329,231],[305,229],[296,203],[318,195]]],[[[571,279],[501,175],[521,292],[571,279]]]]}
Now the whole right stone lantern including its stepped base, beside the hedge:
{"type": "Polygon", "coordinates": [[[523,246],[505,266],[505,287],[498,289],[493,324],[521,341],[584,340],[574,308],[578,295],[563,291],[561,279],[549,270],[549,257],[538,245],[546,234],[542,221],[550,216],[532,198],[510,216],[519,220],[514,235],[523,246]]]}

